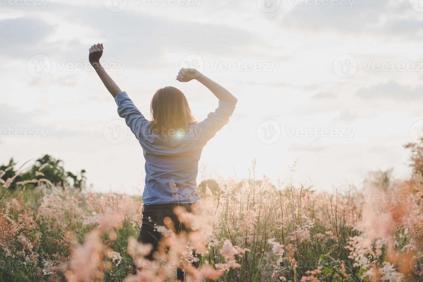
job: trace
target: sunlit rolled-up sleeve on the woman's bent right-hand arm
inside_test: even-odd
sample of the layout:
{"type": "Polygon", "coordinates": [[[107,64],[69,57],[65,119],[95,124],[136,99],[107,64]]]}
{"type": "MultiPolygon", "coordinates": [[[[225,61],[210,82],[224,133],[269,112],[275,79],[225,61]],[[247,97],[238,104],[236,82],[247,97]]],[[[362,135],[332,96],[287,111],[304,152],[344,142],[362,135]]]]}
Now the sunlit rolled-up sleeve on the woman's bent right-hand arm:
{"type": "Polygon", "coordinates": [[[231,117],[234,110],[235,106],[219,100],[217,109],[209,113],[207,118],[201,123],[195,125],[199,134],[198,141],[205,145],[214,135],[216,135],[217,131],[222,129],[222,127],[229,122],[229,117],[231,117]]]}

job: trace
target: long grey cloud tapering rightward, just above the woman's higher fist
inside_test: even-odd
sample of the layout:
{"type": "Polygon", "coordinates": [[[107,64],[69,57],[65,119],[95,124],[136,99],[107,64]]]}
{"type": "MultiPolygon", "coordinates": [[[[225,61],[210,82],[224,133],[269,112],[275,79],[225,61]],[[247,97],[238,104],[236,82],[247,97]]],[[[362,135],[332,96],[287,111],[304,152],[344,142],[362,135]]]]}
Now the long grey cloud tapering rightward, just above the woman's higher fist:
{"type": "Polygon", "coordinates": [[[117,49],[121,55],[132,59],[154,57],[163,51],[175,52],[182,48],[191,52],[235,52],[239,51],[239,47],[258,42],[255,35],[236,27],[195,23],[183,18],[174,20],[143,14],[137,10],[110,13],[105,9],[58,3],[51,3],[49,9],[63,12],[66,21],[78,22],[94,29],[90,35],[93,43],[105,38],[109,49],[117,49]]]}

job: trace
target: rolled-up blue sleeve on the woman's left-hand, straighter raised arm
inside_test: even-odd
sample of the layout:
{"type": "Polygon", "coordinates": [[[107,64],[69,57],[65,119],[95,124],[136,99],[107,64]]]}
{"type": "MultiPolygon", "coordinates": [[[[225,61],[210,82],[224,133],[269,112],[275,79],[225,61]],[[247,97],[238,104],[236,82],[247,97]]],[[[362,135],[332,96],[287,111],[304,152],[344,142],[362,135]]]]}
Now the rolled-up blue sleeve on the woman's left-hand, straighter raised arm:
{"type": "Polygon", "coordinates": [[[126,125],[131,129],[132,133],[139,138],[141,136],[141,129],[148,120],[146,120],[143,114],[135,107],[125,91],[116,95],[115,102],[116,105],[118,105],[119,116],[125,119],[126,125]]]}

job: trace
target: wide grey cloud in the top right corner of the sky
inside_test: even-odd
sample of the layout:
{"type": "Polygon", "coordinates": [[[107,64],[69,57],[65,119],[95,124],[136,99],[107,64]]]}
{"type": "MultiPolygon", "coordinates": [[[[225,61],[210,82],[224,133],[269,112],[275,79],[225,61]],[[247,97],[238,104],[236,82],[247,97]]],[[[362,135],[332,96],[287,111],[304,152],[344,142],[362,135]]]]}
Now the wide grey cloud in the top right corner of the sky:
{"type": "MultiPolygon", "coordinates": [[[[302,2],[300,0],[287,0],[302,2]]],[[[280,24],[302,30],[336,31],[377,36],[421,37],[416,28],[422,21],[409,1],[338,0],[339,5],[316,5],[322,0],[307,0],[312,5],[294,5],[280,24]],[[341,5],[345,4],[345,5],[341,5]],[[351,5],[352,4],[352,5],[351,5]],[[349,8],[351,7],[351,8],[349,8]]],[[[329,1],[326,1],[329,2],[329,1]]],[[[329,2],[330,3],[330,2],[329,2]]]]}

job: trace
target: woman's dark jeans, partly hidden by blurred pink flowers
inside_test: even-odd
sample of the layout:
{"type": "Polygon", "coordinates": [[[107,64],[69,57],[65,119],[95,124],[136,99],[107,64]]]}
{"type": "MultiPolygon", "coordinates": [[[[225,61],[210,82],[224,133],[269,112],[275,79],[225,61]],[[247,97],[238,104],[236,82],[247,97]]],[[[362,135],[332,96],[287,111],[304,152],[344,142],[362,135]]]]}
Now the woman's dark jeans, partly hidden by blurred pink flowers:
{"type": "MultiPolygon", "coordinates": [[[[190,230],[185,227],[183,223],[178,220],[178,216],[173,212],[176,207],[183,207],[187,212],[192,212],[194,209],[199,208],[198,203],[192,204],[178,204],[178,203],[166,203],[166,204],[157,204],[157,205],[143,205],[143,224],[141,225],[140,233],[138,234],[137,241],[143,244],[153,245],[153,249],[150,255],[146,256],[148,260],[154,260],[153,254],[157,252],[159,243],[162,239],[162,233],[154,230],[154,223],[159,226],[164,226],[163,219],[169,217],[175,228],[176,234],[181,231],[189,232],[190,230]]],[[[198,268],[199,263],[193,263],[193,265],[198,268]]],[[[177,268],[177,277],[179,280],[185,280],[184,271],[177,268]]]]}

